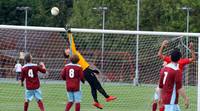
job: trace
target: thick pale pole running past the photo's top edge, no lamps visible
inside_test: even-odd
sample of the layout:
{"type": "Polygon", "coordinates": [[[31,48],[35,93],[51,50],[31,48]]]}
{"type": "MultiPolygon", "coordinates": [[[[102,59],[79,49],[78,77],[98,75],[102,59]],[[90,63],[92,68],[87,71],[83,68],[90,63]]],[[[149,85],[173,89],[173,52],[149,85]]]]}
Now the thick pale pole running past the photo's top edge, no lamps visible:
{"type": "MultiPolygon", "coordinates": [[[[140,0],[137,0],[137,31],[140,30],[140,0]]],[[[137,86],[139,81],[139,35],[136,37],[136,63],[135,63],[135,78],[134,85],[137,86]]]]}

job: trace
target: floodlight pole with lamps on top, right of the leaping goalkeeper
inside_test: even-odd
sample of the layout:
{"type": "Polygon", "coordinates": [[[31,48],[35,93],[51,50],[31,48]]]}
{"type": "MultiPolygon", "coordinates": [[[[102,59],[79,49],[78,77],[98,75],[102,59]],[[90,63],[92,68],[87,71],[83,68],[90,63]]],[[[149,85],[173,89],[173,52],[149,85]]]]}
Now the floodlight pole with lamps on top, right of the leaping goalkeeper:
{"type": "MultiPolygon", "coordinates": [[[[106,14],[106,10],[108,10],[108,7],[94,7],[94,10],[99,10],[102,11],[102,29],[105,29],[105,14],[106,14]]],[[[102,33],[102,45],[101,45],[101,73],[104,73],[104,67],[103,64],[104,63],[104,33],[102,33]]]]}

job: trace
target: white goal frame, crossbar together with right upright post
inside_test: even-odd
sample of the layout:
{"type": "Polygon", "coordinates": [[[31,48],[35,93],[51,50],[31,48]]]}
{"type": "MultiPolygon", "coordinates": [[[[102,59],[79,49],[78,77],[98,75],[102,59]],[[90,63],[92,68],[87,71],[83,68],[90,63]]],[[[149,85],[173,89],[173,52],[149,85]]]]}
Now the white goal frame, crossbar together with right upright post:
{"type": "MultiPolygon", "coordinates": [[[[0,25],[0,29],[16,29],[16,30],[35,30],[35,31],[53,31],[66,32],[64,28],[55,27],[36,27],[36,26],[14,26],[0,25]]],[[[102,29],[80,29],[71,28],[72,32],[82,33],[100,33],[100,34],[132,34],[132,35],[163,35],[163,36],[194,36],[198,37],[198,53],[200,53],[200,33],[184,33],[184,32],[156,32],[156,31],[128,31],[128,30],[102,30],[102,29]]],[[[136,60],[137,61],[137,60],[136,60]]],[[[198,54],[198,92],[197,92],[197,111],[200,111],[200,54],[198,54]]]]}

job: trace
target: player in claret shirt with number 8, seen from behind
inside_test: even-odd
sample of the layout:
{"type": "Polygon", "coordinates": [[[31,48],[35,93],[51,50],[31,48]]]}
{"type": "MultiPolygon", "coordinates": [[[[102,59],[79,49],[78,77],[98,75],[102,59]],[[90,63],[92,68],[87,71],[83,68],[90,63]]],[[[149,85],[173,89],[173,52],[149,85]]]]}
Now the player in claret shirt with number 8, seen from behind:
{"type": "Polygon", "coordinates": [[[84,83],[83,70],[78,63],[77,55],[70,57],[71,63],[67,64],[62,70],[62,79],[66,81],[66,89],[68,93],[68,103],[65,111],[69,111],[73,103],[76,104],[75,111],[80,111],[81,89],[80,81],[84,83]]]}

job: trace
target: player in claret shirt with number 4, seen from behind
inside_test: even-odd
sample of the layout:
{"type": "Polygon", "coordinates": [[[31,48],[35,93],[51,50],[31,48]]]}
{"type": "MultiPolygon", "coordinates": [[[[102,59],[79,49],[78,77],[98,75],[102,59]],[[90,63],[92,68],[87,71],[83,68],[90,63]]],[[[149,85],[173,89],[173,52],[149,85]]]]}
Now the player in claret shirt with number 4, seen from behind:
{"type": "Polygon", "coordinates": [[[33,64],[31,54],[26,54],[24,59],[26,64],[22,67],[21,72],[21,86],[24,86],[23,82],[26,80],[24,111],[28,111],[29,102],[33,97],[36,99],[40,111],[45,111],[38,78],[38,71],[42,73],[46,72],[45,65],[42,62],[40,62],[39,66],[33,64]]]}

